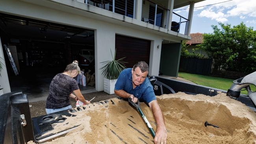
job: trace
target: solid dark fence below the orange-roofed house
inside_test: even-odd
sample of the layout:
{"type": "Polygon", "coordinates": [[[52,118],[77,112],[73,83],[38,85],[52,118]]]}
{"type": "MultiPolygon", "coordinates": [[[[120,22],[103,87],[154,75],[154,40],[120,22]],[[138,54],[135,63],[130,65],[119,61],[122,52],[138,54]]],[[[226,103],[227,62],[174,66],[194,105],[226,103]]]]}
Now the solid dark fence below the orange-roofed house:
{"type": "Polygon", "coordinates": [[[212,59],[180,58],[180,72],[210,75],[212,59]]]}

